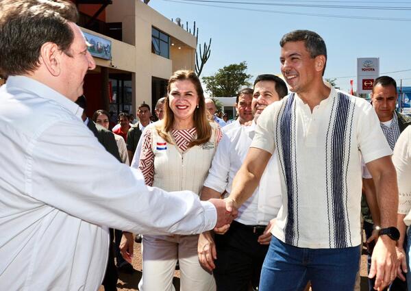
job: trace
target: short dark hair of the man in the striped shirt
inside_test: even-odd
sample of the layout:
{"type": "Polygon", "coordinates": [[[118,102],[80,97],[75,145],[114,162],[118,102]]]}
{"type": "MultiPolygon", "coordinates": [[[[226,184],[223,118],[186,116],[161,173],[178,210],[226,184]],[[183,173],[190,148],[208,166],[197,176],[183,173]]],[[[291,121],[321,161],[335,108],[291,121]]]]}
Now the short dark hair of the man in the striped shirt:
{"type": "Polygon", "coordinates": [[[323,75],[325,72],[325,65],[327,64],[327,47],[325,47],[325,42],[319,34],[316,34],[314,31],[310,30],[294,30],[284,34],[282,39],[279,41],[279,45],[284,47],[287,42],[297,42],[303,41],[306,45],[307,51],[310,53],[311,58],[315,58],[318,55],[325,56],[325,64],[323,69],[323,75]]]}

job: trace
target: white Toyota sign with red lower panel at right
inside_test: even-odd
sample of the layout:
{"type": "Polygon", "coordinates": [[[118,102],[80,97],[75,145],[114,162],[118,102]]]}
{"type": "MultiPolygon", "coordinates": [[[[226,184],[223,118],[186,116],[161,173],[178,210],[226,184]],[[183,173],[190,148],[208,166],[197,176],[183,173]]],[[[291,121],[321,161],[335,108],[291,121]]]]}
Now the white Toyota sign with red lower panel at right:
{"type": "Polygon", "coordinates": [[[368,94],[379,77],[379,58],[357,58],[357,92],[368,94]]]}

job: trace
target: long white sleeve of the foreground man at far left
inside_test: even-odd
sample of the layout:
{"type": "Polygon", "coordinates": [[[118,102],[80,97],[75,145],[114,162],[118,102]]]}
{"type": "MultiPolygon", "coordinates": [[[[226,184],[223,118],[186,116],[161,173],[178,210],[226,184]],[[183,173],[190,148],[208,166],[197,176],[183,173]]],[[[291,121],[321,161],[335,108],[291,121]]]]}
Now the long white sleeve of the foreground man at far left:
{"type": "Polygon", "coordinates": [[[216,223],[211,203],[190,191],[145,186],[79,120],[58,121],[30,143],[25,193],[96,225],[134,233],[201,233],[216,223]]]}

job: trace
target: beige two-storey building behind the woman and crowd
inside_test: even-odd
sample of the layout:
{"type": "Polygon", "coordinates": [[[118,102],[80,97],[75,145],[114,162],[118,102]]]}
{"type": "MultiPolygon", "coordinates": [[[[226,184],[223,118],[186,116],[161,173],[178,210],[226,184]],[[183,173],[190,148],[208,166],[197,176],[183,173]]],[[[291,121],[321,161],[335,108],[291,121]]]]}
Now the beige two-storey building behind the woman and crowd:
{"type": "Polygon", "coordinates": [[[135,114],[140,103],[153,110],[173,71],[195,69],[197,38],[142,1],[71,1],[97,64],[84,81],[88,115],[135,114]]]}

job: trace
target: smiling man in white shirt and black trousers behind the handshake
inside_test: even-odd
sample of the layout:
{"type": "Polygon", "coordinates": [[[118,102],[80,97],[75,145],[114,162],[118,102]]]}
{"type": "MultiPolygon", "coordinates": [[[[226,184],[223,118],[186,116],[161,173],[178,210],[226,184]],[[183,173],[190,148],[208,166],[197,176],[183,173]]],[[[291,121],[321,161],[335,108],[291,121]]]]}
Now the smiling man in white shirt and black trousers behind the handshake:
{"type": "MultiPolygon", "coordinates": [[[[249,126],[234,127],[223,135],[208,173],[201,199],[219,198],[231,192],[232,181],[253,140],[255,121],[264,108],[287,94],[285,82],[275,75],[259,75],[254,82],[252,108],[255,116],[249,126]]],[[[241,99],[240,99],[241,101],[241,99]]],[[[269,249],[271,227],[281,206],[277,157],[273,155],[264,170],[260,186],[238,210],[227,233],[207,231],[199,237],[199,260],[214,270],[217,290],[258,288],[262,262],[269,249]],[[214,244],[215,240],[215,244],[214,244]],[[218,257],[218,260],[214,260],[218,257]]]]}

